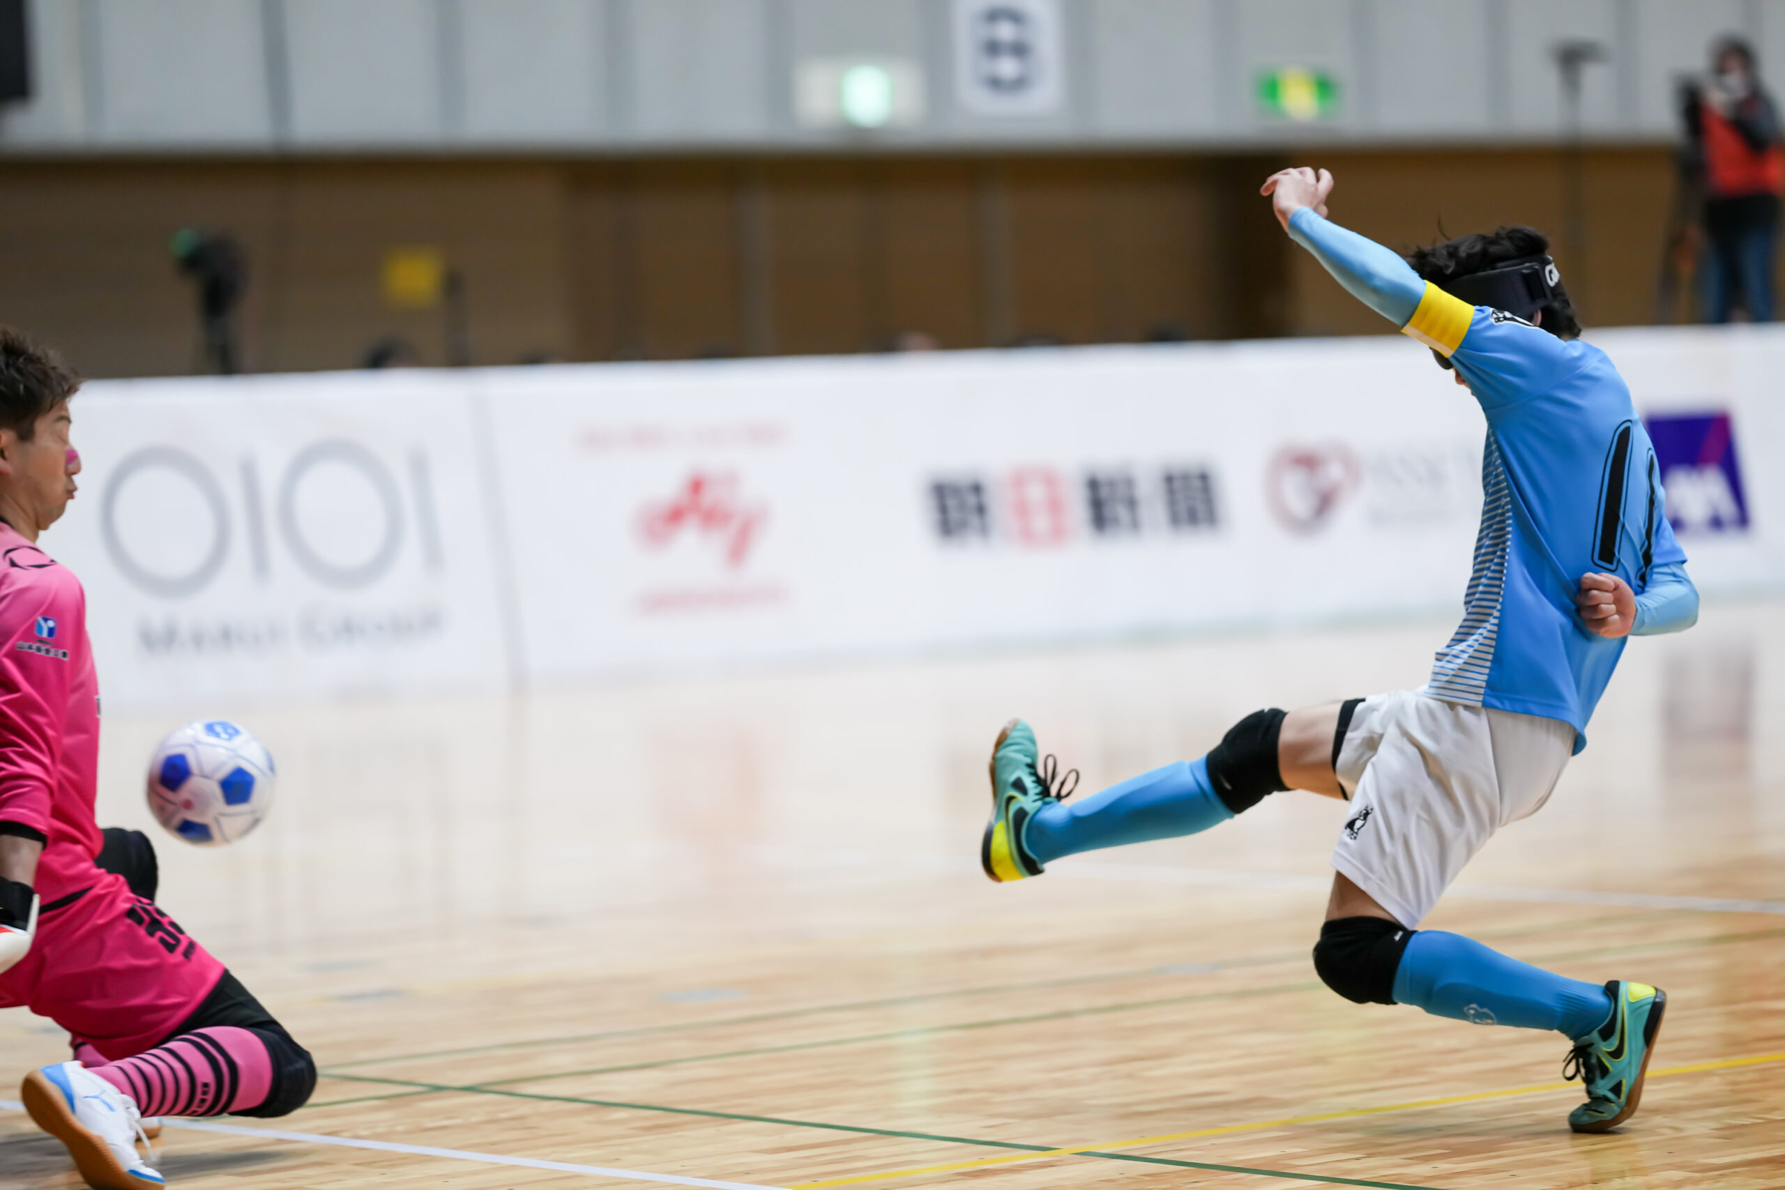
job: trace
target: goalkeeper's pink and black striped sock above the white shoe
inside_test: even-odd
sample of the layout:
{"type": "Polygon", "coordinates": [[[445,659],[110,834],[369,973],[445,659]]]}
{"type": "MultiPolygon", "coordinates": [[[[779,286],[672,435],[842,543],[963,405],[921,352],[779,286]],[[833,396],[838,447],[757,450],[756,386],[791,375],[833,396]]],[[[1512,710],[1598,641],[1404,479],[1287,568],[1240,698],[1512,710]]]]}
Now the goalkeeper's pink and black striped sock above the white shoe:
{"type": "Polygon", "coordinates": [[[227,1115],[266,1103],[273,1060],[248,1029],[216,1026],[93,1070],[143,1115],[227,1115]]]}

